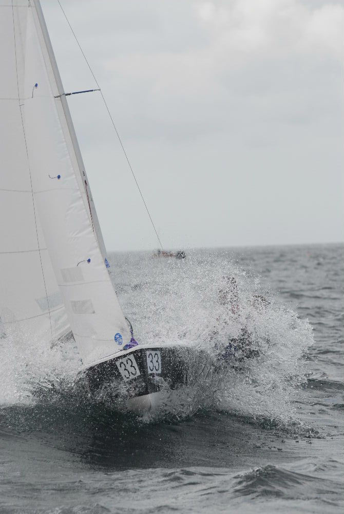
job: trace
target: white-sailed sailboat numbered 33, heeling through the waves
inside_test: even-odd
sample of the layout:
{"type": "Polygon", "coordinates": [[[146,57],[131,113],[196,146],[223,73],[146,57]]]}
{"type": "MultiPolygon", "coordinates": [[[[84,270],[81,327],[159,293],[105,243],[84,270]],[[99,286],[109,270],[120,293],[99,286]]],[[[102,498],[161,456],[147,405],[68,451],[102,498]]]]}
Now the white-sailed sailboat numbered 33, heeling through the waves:
{"type": "MultiPolygon", "coordinates": [[[[39,0],[0,4],[0,334],[72,337],[90,392],[120,385],[144,412],[211,374],[206,352],[139,342],[116,291],[39,0]]],[[[116,388],[115,388],[116,389],[116,388]]]]}

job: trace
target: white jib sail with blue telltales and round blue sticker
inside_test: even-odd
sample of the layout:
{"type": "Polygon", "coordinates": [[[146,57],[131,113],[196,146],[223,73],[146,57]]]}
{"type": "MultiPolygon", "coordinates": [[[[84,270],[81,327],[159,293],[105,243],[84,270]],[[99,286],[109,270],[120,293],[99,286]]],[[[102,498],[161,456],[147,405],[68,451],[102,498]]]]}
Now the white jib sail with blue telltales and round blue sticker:
{"type": "Polygon", "coordinates": [[[32,188],[69,323],[89,366],[121,350],[130,333],[94,232],[37,11],[35,0],[28,8],[24,87],[32,188]]]}

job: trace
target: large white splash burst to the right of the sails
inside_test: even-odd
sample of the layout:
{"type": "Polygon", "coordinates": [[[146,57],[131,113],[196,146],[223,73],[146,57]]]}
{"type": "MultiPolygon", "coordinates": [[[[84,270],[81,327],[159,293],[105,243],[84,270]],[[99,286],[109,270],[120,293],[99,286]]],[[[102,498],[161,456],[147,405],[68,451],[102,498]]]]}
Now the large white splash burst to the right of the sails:
{"type": "Polygon", "coordinates": [[[314,342],[308,320],[282,305],[261,286],[259,277],[225,253],[195,253],[185,261],[147,258],[142,265],[144,278],[134,264],[137,256],[131,260],[135,295],[129,284],[122,284],[122,293],[139,341],[183,341],[221,355],[228,342],[244,330],[259,356],[222,370],[213,383],[214,405],[252,417],[285,422],[293,417],[295,386],[305,380],[303,356],[314,342]],[[219,291],[228,277],[234,277],[238,285],[235,314],[221,305],[219,291]],[[263,295],[267,302],[257,305],[256,295],[263,295]]]}

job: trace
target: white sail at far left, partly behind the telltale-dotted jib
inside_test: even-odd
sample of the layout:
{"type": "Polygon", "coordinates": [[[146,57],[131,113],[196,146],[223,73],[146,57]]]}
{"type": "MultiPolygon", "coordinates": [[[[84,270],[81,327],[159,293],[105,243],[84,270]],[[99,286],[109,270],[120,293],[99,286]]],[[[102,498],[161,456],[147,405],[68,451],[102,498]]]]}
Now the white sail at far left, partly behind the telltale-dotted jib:
{"type": "MultiPolygon", "coordinates": [[[[34,204],[23,126],[28,2],[0,0],[0,338],[70,331],[34,204]]],[[[4,344],[6,339],[4,339],[4,344]]]]}

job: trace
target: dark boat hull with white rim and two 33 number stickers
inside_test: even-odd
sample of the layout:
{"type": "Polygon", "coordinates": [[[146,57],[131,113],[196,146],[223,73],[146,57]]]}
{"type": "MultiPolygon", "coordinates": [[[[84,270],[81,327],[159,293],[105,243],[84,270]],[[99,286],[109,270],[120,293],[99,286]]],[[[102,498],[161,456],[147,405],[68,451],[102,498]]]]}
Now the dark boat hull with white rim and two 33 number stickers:
{"type": "MultiPolygon", "coordinates": [[[[186,344],[140,345],[85,370],[92,394],[118,396],[121,410],[176,413],[211,379],[213,360],[186,344]]],[[[114,401],[116,407],[116,401],[114,401]]]]}

